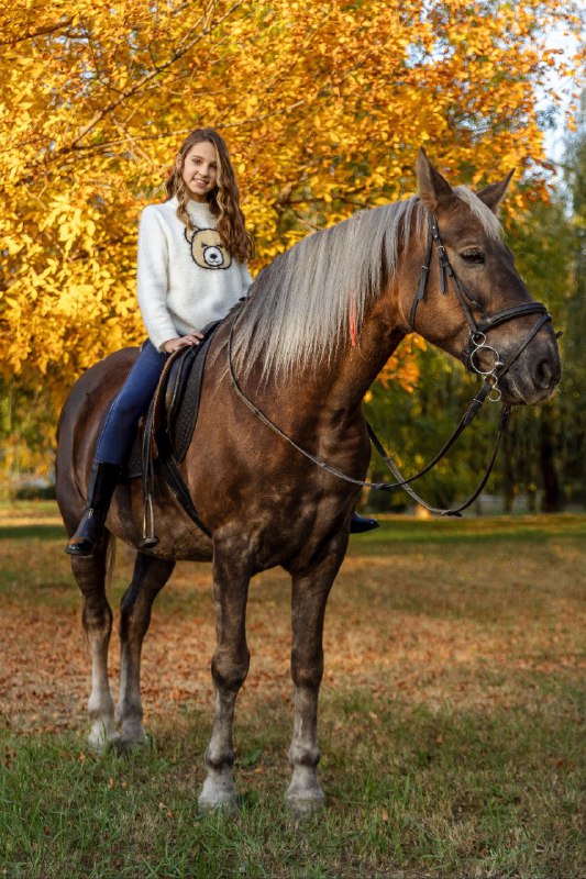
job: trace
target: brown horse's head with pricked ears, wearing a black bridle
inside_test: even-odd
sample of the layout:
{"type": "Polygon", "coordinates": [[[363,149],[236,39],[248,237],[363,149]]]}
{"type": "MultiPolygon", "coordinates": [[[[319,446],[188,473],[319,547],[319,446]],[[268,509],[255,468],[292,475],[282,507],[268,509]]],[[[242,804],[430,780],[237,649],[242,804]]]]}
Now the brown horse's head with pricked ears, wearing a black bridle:
{"type": "Polygon", "coordinates": [[[560,380],[560,355],[545,307],[529,296],[499,234],[496,212],[511,175],[477,194],[454,190],[423,151],[417,175],[429,272],[421,270],[409,302],[411,329],[493,376],[505,402],[544,402],[560,380]]]}

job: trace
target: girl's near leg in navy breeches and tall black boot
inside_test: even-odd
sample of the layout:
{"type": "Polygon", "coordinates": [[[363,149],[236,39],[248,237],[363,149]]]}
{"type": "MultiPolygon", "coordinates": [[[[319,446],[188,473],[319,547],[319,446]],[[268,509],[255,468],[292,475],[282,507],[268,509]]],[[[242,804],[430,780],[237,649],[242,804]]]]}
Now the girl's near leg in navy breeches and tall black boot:
{"type": "Polygon", "coordinates": [[[156,390],[166,355],[146,342],[110,407],[103,425],[88,488],[86,511],[65,552],[91,556],[103,537],[103,525],[121,468],[132,448],[136,425],[156,390]]]}

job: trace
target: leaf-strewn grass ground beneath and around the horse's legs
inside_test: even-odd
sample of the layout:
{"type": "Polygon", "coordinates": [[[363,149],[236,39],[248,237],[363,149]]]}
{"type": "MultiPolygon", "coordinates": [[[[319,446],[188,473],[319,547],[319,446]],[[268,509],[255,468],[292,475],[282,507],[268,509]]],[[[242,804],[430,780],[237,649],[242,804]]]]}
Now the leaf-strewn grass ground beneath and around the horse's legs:
{"type": "MultiPolygon", "coordinates": [[[[0,508],[0,877],[586,876],[586,518],[389,518],[353,541],[327,621],[329,808],[296,824],[283,802],[286,578],[267,572],[251,591],[239,814],[202,815],[209,569],[178,566],[157,602],[144,663],[150,747],[98,758],[84,738],[79,599],[49,505],[42,516],[0,508]],[[24,541],[13,528],[31,531],[24,541]]],[[[117,601],[130,568],[121,552],[117,601]]]]}

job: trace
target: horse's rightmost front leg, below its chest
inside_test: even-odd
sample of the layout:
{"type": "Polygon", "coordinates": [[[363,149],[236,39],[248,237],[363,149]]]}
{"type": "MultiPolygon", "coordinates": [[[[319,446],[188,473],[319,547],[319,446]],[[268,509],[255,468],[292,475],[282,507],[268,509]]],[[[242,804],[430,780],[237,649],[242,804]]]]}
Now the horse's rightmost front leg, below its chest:
{"type": "Polygon", "coordinates": [[[344,558],[347,535],[332,542],[328,556],[310,572],[292,578],[291,677],[295,685],[292,766],[287,802],[297,814],[324,804],[318,778],[318,698],[323,675],[323,619],[330,589],[344,558]]]}

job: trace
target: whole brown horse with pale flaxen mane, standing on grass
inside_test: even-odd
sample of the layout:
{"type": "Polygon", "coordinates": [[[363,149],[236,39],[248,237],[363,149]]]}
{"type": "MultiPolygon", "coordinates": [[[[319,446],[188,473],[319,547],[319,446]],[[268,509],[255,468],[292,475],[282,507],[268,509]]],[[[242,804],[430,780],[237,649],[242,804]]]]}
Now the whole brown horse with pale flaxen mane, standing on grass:
{"type": "MultiPolygon", "coordinates": [[[[157,486],[159,543],[137,550],[121,604],[115,713],[108,681],[112,612],[106,580],[114,536],[135,548],[141,541],[140,480],[117,488],[95,555],[71,558],[84,594],[92,660],[90,742],[98,749],[145,741],[141,647],[153,601],[177,559],[212,561],[215,716],[206,754],[203,806],[235,803],[232,723],[248,669],[248,581],[276,565],[292,580],[295,723],[287,799],[299,811],[323,802],[317,774],[323,617],[346,552],[357,492],[355,485],[292,449],[244,405],[230,379],[231,331],[233,368],[243,391],[284,433],[358,480],[371,454],[362,399],[413,323],[429,342],[498,380],[508,404],[543,402],[560,379],[544,307],[531,300],[499,236],[496,210],[508,178],[477,194],[465,187],[452,189],[423,152],[417,173],[419,198],[360,212],[283,254],[261,272],[248,299],[217,332],[183,467],[212,536],[198,530],[164,483],[157,486]]],[[[92,367],[64,408],[57,498],[69,534],[84,510],[100,421],[135,356],[136,349],[129,348],[92,367]]]]}

